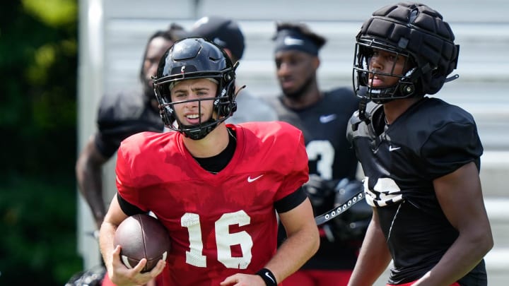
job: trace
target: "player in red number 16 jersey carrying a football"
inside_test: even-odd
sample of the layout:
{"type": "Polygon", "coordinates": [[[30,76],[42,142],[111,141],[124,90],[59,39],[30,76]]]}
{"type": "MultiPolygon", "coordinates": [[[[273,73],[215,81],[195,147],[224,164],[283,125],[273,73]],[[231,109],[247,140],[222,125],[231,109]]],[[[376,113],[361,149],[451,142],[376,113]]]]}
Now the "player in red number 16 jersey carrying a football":
{"type": "Polygon", "coordinates": [[[302,133],[283,122],[226,124],[235,68],[213,42],[189,37],[163,56],[154,79],[161,117],[177,132],[138,133],[117,155],[117,188],[100,229],[115,284],[277,285],[320,244],[309,199],[302,133]],[[172,124],[173,122],[177,124],[172,124]],[[141,273],[114,248],[128,215],[151,211],[168,228],[168,262],[141,273]],[[288,239],[276,249],[277,220],[288,239]]]}

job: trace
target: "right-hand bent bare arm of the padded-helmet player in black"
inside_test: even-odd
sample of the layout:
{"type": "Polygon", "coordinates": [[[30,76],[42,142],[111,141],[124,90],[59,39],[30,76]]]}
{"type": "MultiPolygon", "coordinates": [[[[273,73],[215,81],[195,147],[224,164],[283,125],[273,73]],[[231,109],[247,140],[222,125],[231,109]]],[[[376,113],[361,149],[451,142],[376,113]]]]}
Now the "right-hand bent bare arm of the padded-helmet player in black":
{"type": "Polygon", "coordinates": [[[433,181],[447,220],[460,232],[454,244],[414,285],[451,285],[469,273],[493,247],[479,172],[473,162],[433,181]]]}

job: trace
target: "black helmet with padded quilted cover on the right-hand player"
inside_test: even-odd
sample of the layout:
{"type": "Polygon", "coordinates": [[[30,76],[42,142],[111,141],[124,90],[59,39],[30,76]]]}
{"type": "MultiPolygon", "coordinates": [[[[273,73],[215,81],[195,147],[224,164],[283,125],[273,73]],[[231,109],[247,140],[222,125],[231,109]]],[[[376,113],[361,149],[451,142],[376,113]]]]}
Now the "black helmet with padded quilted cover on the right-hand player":
{"type": "Polygon", "coordinates": [[[460,49],[455,36],[442,15],[423,4],[399,3],[380,8],[363,23],[356,36],[353,59],[353,88],[356,94],[384,103],[389,100],[433,95],[457,66],[460,49]],[[406,57],[404,75],[369,70],[373,49],[406,57]],[[396,85],[373,88],[368,84],[369,73],[396,76],[396,85]]]}

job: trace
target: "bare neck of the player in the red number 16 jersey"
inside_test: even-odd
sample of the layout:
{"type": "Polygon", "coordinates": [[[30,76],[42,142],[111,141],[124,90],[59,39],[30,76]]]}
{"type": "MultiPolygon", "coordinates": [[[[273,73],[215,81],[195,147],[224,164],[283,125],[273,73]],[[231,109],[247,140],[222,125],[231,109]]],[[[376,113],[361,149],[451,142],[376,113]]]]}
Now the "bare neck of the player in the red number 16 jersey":
{"type": "Polygon", "coordinates": [[[221,153],[228,146],[228,129],[223,122],[203,139],[192,140],[182,136],[182,140],[193,157],[212,157],[221,153]]]}

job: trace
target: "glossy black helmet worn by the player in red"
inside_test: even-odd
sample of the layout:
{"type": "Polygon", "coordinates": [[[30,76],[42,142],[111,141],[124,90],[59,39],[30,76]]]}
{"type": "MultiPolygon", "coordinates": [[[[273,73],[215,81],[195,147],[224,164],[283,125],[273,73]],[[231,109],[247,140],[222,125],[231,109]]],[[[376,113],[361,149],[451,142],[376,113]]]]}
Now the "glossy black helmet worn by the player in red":
{"type": "MultiPolygon", "coordinates": [[[[235,102],[235,68],[228,55],[213,42],[203,37],[187,37],[175,42],[161,58],[157,75],[153,78],[154,91],[159,102],[160,116],[168,128],[184,133],[194,140],[204,138],[237,109],[235,102]],[[172,102],[170,85],[188,79],[211,78],[218,83],[215,97],[172,102]],[[213,100],[216,118],[200,121],[197,125],[182,124],[174,112],[174,105],[213,100]],[[175,125],[176,123],[176,125],[175,125]]],[[[199,105],[201,108],[201,105],[199,105]]]]}

